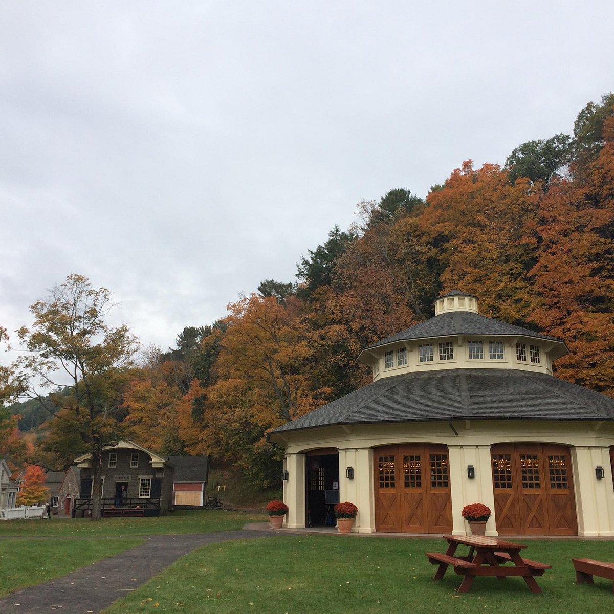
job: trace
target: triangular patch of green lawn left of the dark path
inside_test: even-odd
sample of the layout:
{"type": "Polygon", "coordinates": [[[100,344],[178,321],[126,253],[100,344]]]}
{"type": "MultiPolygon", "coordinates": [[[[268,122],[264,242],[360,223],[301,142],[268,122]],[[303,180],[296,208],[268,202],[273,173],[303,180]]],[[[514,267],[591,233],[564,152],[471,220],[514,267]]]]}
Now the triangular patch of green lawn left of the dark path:
{"type": "MultiPolygon", "coordinates": [[[[10,524],[8,521],[2,524],[10,524]]],[[[38,521],[31,521],[31,523],[38,521]]],[[[128,548],[141,545],[144,540],[61,538],[0,539],[0,597],[17,588],[41,584],[60,578],[73,570],[113,556],[128,548]]]]}

